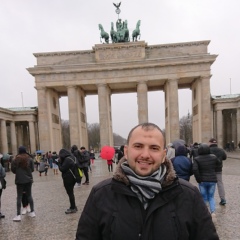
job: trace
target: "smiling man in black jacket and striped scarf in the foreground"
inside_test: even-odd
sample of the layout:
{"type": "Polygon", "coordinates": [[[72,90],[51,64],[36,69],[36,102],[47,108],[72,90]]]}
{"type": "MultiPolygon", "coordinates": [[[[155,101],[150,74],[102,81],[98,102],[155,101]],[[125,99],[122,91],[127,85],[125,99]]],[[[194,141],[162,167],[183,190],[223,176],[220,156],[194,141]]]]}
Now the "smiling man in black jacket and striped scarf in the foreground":
{"type": "Polygon", "coordinates": [[[158,126],[134,127],[124,156],[91,190],[76,239],[219,239],[198,189],[176,177],[158,126]]]}

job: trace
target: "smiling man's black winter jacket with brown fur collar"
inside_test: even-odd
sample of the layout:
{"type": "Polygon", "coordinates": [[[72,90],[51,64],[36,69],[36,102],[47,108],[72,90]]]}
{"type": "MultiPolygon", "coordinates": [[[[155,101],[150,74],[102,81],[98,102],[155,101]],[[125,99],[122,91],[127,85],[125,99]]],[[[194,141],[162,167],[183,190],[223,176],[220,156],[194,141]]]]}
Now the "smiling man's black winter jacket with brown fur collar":
{"type": "Polygon", "coordinates": [[[123,173],[121,159],[113,179],[93,187],[78,223],[81,240],[217,240],[199,190],[177,179],[169,160],[162,191],[144,210],[123,173]]]}

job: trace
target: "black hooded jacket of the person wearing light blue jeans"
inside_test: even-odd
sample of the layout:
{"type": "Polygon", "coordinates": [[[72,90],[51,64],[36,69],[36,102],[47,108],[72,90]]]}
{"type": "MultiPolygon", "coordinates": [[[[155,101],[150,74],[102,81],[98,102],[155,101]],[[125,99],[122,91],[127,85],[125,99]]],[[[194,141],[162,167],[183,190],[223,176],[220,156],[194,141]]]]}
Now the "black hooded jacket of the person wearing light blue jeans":
{"type": "Polygon", "coordinates": [[[217,182],[215,169],[219,164],[218,158],[210,154],[210,147],[207,144],[200,144],[198,156],[194,158],[193,174],[198,183],[217,182]]]}

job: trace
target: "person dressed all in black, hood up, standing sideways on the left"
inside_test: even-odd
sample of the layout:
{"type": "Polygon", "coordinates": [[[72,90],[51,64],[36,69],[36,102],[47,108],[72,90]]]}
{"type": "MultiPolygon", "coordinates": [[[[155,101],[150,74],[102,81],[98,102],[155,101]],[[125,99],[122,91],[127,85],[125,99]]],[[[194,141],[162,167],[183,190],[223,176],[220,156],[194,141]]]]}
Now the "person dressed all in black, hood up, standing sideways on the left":
{"type": "Polygon", "coordinates": [[[74,176],[75,159],[74,156],[66,149],[61,149],[59,151],[58,167],[60,172],[62,172],[63,185],[70,201],[70,208],[68,208],[65,213],[76,213],[78,209],[75,204],[73,190],[76,183],[76,178],[74,176]]]}

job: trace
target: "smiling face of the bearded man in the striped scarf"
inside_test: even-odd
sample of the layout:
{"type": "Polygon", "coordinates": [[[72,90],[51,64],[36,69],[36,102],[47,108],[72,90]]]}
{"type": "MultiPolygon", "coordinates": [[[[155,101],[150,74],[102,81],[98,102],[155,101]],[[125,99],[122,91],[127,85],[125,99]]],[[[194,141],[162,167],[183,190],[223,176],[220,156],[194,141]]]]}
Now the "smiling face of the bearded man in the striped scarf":
{"type": "Polygon", "coordinates": [[[162,133],[158,129],[136,128],[124,147],[130,168],[139,176],[149,176],[165,161],[166,150],[162,133]]]}

